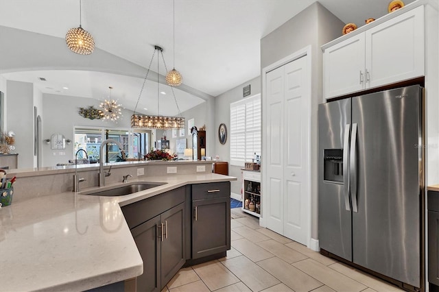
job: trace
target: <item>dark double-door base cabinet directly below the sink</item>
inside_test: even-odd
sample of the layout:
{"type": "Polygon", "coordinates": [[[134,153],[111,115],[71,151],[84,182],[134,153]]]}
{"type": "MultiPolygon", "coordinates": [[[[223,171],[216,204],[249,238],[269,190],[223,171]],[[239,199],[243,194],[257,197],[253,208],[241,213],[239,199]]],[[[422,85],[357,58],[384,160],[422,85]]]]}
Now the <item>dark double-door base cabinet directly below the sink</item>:
{"type": "Polygon", "coordinates": [[[143,260],[137,291],[161,291],[185,264],[185,190],[177,188],[122,207],[143,260]]]}

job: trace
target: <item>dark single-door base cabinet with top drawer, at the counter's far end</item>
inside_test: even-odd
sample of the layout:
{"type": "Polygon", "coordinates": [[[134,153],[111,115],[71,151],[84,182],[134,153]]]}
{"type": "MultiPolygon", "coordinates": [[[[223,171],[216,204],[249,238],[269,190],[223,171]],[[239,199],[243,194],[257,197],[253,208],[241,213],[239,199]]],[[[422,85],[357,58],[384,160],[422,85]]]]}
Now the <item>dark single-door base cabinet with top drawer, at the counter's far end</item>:
{"type": "Polygon", "coordinates": [[[192,186],[192,258],[230,250],[230,182],[192,186]]]}

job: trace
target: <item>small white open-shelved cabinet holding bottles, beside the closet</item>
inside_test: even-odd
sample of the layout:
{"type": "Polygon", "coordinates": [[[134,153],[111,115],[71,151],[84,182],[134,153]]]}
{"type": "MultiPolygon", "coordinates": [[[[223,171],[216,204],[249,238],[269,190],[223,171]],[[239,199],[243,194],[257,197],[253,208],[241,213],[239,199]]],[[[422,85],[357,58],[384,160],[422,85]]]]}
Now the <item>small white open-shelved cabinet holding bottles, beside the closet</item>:
{"type": "Polygon", "coordinates": [[[242,210],[261,217],[261,172],[242,171],[242,210]]]}

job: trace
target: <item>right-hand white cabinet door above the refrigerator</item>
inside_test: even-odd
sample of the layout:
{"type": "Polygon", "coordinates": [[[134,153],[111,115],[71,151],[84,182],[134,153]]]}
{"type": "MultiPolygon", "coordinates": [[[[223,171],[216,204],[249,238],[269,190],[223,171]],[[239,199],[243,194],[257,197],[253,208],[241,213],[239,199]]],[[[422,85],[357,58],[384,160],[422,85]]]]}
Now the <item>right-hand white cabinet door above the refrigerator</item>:
{"type": "Polygon", "coordinates": [[[424,75],[424,6],[366,32],[367,88],[424,75]]]}

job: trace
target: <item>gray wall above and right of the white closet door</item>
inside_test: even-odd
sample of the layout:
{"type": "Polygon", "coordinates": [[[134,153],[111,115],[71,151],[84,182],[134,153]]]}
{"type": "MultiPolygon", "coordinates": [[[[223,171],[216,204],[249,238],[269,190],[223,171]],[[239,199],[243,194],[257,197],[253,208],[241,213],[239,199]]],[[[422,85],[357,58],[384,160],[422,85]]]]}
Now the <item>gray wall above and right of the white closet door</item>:
{"type": "MultiPolygon", "coordinates": [[[[322,50],[342,36],[344,23],[316,2],[261,39],[261,69],[311,46],[311,238],[318,239],[318,104],[322,98],[322,50]]],[[[265,76],[262,76],[265,78],[265,76]]],[[[262,93],[262,98],[264,98],[262,93]]],[[[263,110],[263,108],[262,108],[263,110]]],[[[262,158],[263,163],[263,158],[262,158]]],[[[263,167],[263,164],[262,164],[263,167]]]]}

